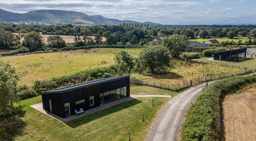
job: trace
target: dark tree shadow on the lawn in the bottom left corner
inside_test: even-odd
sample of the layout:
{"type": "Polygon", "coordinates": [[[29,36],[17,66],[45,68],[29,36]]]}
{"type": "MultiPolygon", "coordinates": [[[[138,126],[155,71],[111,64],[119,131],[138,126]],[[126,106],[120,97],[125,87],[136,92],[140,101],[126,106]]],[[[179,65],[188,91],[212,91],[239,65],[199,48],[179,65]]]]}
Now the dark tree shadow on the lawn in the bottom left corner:
{"type": "Polygon", "coordinates": [[[27,126],[21,119],[25,115],[25,111],[22,110],[24,106],[14,107],[12,116],[0,120],[0,140],[14,140],[16,136],[22,135],[27,126]]]}

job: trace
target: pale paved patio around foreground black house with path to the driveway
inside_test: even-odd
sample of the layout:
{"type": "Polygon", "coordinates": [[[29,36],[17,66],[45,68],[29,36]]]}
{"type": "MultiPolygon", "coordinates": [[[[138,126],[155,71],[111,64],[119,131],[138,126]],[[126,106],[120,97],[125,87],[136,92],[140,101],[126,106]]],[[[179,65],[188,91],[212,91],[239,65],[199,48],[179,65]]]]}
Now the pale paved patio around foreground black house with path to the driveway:
{"type": "Polygon", "coordinates": [[[90,115],[92,113],[101,111],[103,109],[107,109],[109,107],[124,103],[126,101],[130,101],[130,100],[132,100],[134,98],[138,98],[138,97],[171,97],[171,96],[170,95],[130,95],[130,97],[122,98],[120,100],[110,102],[110,103],[95,107],[93,109],[86,110],[86,111],[84,111],[84,113],[81,113],[79,115],[71,115],[71,116],[68,116],[68,117],[65,117],[65,118],[61,118],[59,116],[56,116],[56,115],[52,114],[51,112],[48,112],[48,111],[44,110],[43,109],[43,103],[38,103],[38,104],[35,104],[35,105],[31,105],[30,107],[32,107],[32,108],[34,108],[34,109],[36,109],[36,110],[38,110],[38,111],[40,111],[44,114],[56,119],[56,120],[59,120],[61,122],[66,123],[66,122],[78,119],[80,117],[87,116],[87,115],[90,115]]]}

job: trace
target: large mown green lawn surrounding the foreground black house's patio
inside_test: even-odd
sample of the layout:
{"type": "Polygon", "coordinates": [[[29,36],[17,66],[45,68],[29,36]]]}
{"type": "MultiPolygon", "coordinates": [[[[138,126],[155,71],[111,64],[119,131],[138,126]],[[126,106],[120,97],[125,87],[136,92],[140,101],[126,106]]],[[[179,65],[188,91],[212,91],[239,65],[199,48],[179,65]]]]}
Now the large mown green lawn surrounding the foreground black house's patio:
{"type": "Polygon", "coordinates": [[[131,140],[141,141],[145,140],[157,112],[169,99],[136,98],[65,124],[31,108],[30,105],[42,102],[41,96],[37,96],[21,101],[20,106],[15,105],[17,116],[0,120],[0,135],[3,140],[102,141],[128,140],[130,132],[131,140]],[[145,122],[142,122],[142,113],[145,122]]]}

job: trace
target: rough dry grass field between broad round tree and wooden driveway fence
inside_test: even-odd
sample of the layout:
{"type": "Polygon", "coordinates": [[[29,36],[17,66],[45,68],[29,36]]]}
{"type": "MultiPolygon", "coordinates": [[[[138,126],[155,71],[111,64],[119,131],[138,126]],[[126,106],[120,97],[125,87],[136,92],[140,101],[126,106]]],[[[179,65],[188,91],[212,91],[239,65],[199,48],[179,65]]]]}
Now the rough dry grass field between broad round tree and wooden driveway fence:
{"type": "Polygon", "coordinates": [[[198,77],[204,77],[214,74],[238,71],[242,69],[223,67],[213,64],[190,63],[178,60],[172,60],[173,66],[167,68],[162,74],[150,73],[133,73],[132,78],[143,79],[148,81],[177,85],[190,81],[198,77]]]}

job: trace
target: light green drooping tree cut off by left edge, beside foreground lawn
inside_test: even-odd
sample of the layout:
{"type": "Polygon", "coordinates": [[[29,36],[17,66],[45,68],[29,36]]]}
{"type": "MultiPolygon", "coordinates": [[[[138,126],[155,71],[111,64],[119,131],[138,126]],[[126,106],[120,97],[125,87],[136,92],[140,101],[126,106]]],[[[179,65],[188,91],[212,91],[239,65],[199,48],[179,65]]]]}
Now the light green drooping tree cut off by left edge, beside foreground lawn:
{"type": "Polygon", "coordinates": [[[15,70],[6,62],[0,61],[0,116],[10,114],[13,103],[18,101],[17,80],[15,70]]]}

